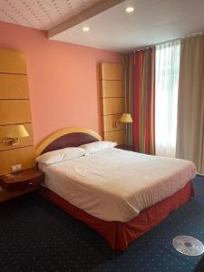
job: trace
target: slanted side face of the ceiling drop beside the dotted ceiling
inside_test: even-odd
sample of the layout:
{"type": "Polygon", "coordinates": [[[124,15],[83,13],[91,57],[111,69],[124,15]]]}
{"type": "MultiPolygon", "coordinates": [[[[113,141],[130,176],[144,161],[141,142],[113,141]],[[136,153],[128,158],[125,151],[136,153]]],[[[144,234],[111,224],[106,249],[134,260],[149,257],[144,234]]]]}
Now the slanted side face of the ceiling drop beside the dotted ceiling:
{"type": "Polygon", "coordinates": [[[72,18],[68,19],[67,21],[63,22],[62,24],[58,24],[57,26],[53,27],[53,29],[49,30],[47,35],[48,38],[52,38],[56,34],[60,34],[63,31],[73,27],[76,24],[80,24],[83,21],[92,18],[94,15],[99,15],[103,11],[111,8],[114,5],[118,5],[125,0],[102,0],[101,2],[93,5],[92,7],[83,10],[82,13],[78,15],[74,15],[72,18]]]}

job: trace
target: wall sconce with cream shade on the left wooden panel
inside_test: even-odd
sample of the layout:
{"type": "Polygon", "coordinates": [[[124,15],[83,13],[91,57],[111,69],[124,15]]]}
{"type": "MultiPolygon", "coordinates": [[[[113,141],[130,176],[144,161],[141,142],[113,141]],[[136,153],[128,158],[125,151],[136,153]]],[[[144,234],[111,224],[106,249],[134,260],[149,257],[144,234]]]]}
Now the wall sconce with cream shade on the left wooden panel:
{"type": "Polygon", "coordinates": [[[17,145],[19,143],[19,138],[28,137],[29,133],[25,130],[24,125],[11,126],[5,133],[4,144],[10,143],[11,145],[17,145]]]}

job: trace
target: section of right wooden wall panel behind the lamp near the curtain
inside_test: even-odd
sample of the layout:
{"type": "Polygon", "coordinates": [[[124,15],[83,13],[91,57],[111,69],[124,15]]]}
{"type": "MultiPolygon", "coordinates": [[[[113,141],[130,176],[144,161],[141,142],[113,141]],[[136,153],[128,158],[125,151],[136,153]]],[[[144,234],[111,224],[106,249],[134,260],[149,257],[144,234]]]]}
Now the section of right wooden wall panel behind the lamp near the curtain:
{"type": "Polygon", "coordinates": [[[102,132],[122,130],[123,124],[120,122],[121,114],[102,116],[102,132]]]}

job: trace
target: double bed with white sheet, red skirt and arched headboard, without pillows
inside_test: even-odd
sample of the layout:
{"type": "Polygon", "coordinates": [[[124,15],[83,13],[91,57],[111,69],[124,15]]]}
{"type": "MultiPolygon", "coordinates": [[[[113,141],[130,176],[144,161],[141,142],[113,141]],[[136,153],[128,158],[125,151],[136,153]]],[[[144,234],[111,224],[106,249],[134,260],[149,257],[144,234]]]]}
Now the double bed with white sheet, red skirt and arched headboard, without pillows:
{"type": "MultiPolygon", "coordinates": [[[[65,129],[45,139],[36,155],[95,141],[101,136],[94,131],[65,129]]],[[[121,250],[193,196],[196,174],[187,160],[117,148],[38,167],[45,173],[41,195],[121,250]]]]}

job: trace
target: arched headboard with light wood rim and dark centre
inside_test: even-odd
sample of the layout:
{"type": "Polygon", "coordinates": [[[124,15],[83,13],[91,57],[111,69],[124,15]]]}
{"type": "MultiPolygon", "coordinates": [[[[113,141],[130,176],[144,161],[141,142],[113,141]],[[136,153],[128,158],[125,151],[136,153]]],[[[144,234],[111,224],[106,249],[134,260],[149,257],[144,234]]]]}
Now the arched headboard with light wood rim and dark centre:
{"type": "Polygon", "coordinates": [[[67,128],[56,131],[44,139],[35,149],[35,154],[39,156],[45,152],[76,147],[93,141],[102,141],[102,137],[86,128],[67,128]]]}

